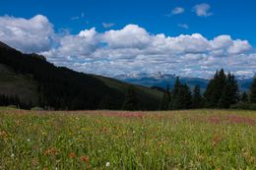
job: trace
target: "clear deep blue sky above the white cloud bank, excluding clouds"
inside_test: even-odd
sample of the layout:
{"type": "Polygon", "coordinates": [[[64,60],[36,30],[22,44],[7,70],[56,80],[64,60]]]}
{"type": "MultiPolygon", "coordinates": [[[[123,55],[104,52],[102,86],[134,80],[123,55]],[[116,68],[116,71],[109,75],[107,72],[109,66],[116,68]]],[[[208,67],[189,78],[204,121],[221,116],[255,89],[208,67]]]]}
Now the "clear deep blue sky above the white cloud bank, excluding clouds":
{"type": "Polygon", "coordinates": [[[56,30],[70,28],[74,33],[93,27],[103,31],[102,23],[114,23],[113,28],[136,24],[150,32],[167,35],[200,32],[213,38],[230,34],[256,46],[255,8],[254,0],[1,0],[0,15],[29,19],[41,14],[47,16],[56,30]],[[213,16],[206,19],[193,14],[193,6],[200,3],[210,4],[213,16]],[[184,14],[166,17],[175,7],[184,8],[184,14]],[[85,14],[83,19],[70,20],[82,13],[85,14]],[[178,28],[178,24],[189,28],[178,28]]]}

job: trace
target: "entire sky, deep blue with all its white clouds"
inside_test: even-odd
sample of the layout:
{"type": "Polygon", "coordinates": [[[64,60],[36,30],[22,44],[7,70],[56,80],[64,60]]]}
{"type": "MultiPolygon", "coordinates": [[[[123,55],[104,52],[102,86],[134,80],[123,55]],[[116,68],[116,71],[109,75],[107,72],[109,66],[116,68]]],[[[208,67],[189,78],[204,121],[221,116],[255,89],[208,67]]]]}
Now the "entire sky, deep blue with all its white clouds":
{"type": "Polygon", "coordinates": [[[252,76],[255,70],[252,64],[256,63],[255,8],[254,0],[1,0],[0,40],[24,52],[44,54],[56,65],[82,72],[110,76],[163,72],[203,77],[226,66],[237,75],[252,76]],[[29,24],[24,24],[26,21],[29,24]],[[41,29],[34,27],[36,24],[41,29]],[[32,25],[34,30],[24,25],[32,25]],[[41,39],[38,41],[41,45],[34,45],[36,42],[28,38],[25,39],[31,43],[21,44],[23,36],[19,34],[20,39],[16,39],[12,31],[41,39]],[[40,36],[36,37],[34,32],[40,36]],[[47,42],[43,41],[45,38],[47,42]],[[155,43],[149,44],[147,38],[155,43]],[[215,38],[219,41],[212,42],[215,38]],[[127,43],[116,44],[120,40],[127,43]],[[128,43],[129,40],[132,42],[128,43]],[[197,46],[193,45],[201,48],[205,40],[211,47],[195,50],[197,46]],[[78,42],[81,44],[74,45],[78,42]],[[221,55],[224,57],[220,58],[221,55]],[[194,64],[186,63],[187,59],[194,64]],[[248,69],[244,68],[248,65],[246,59],[253,61],[248,69]],[[156,63],[160,66],[147,68],[156,63]],[[99,70],[100,67],[107,71],[99,70]]]}

